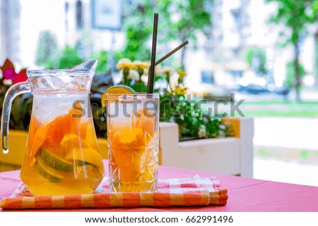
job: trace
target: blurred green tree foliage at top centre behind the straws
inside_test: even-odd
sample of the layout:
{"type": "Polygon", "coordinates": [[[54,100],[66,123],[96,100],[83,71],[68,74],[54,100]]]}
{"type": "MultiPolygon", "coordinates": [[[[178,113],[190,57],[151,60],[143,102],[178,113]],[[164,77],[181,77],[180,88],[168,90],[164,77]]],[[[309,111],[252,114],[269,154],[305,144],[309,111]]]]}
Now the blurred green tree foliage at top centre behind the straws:
{"type": "MultiPolygon", "coordinates": [[[[185,39],[196,46],[197,32],[211,26],[209,6],[213,0],[141,0],[126,4],[124,30],[126,44],[123,55],[126,58],[149,61],[150,46],[147,45],[153,33],[153,13],[159,13],[158,48],[167,46],[170,41],[181,43],[185,39]]],[[[161,54],[166,54],[161,49],[161,54]]],[[[180,65],[184,68],[186,49],[181,50],[180,65]]],[[[157,55],[158,56],[158,55],[157,55]]],[[[158,56],[159,57],[159,56],[158,56]]]]}

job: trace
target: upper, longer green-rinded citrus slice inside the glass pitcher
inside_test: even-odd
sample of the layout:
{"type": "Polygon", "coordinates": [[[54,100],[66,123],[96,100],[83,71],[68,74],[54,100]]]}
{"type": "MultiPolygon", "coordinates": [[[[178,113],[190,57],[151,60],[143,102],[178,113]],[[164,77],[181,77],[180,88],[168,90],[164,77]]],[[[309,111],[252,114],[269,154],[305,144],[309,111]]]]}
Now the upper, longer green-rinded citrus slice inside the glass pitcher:
{"type": "Polygon", "coordinates": [[[42,149],[39,158],[41,158],[43,163],[51,168],[54,168],[55,170],[62,172],[73,172],[74,170],[74,165],[72,163],[64,161],[64,159],[54,155],[54,153],[48,151],[47,149],[42,149]]]}

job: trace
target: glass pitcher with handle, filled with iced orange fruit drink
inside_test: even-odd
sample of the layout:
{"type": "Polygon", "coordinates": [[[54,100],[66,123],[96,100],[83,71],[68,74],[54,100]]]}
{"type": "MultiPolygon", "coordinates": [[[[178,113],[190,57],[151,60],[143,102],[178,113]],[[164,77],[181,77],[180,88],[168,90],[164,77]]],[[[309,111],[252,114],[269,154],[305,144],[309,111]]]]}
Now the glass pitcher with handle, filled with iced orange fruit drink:
{"type": "Polygon", "coordinates": [[[28,80],[6,93],[1,120],[4,153],[15,96],[33,94],[33,108],[20,177],[34,195],[91,194],[104,166],[88,94],[97,60],[66,70],[28,70],[28,80]]]}

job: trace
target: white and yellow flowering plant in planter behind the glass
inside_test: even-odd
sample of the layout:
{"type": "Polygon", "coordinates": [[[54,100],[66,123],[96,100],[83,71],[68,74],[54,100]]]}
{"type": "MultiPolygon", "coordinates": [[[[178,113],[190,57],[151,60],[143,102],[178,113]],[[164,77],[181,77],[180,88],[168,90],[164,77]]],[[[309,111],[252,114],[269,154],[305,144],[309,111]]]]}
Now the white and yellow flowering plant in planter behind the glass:
{"type": "MultiPolygon", "coordinates": [[[[117,70],[122,74],[122,84],[129,85],[136,92],[146,92],[149,63],[122,59],[117,63],[117,70]],[[138,86],[136,86],[138,84],[138,86]]],[[[155,68],[155,82],[167,82],[167,87],[156,89],[160,94],[160,121],[173,122],[179,125],[181,139],[213,138],[230,135],[230,125],[223,125],[221,118],[209,115],[200,108],[197,101],[187,99],[187,87],[183,70],[174,71],[172,68],[155,68]],[[172,81],[172,76],[177,80],[172,81]]]]}

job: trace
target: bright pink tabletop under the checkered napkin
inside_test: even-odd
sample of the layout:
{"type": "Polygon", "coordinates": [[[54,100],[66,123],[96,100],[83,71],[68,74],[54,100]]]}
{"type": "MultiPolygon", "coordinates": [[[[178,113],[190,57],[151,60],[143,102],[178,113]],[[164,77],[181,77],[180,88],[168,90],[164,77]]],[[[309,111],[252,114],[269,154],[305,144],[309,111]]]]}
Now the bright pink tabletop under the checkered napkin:
{"type": "MultiPolygon", "coordinates": [[[[107,169],[107,167],[105,168],[107,169]]],[[[19,170],[0,173],[0,199],[10,196],[16,189],[20,183],[19,173],[19,170]]],[[[191,177],[194,175],[199,175],[201,177],[216,176],[220,182],[221,188],[228,189],[228,204],[226,206],[203,207],[88,208],[80,210],[54,209],[53,211],[318,211],[318,187],[217,175],[209,172],[159,166],[159,177],[163,179],[172,177],[191,177]]]]}

